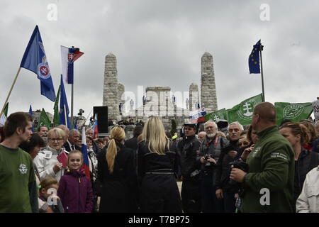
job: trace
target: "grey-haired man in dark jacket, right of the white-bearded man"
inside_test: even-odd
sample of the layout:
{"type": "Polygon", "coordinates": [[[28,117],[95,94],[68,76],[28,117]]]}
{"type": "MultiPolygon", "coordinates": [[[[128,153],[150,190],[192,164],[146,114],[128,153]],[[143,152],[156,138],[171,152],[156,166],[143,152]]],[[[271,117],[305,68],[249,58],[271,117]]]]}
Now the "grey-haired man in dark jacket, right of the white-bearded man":
{"type": "Polygon", "coordinates": [[[226,213],[235,213],[235,193],[238,191],[237,185],[230,184],[230,162],[235,160],[237,150],[239,149],[238,140],[240,133],[243,131],[242,125],[235,121],[228,126],[228,136],[230,144],[223,149],[218,160],[216,174],[216,196],[223,199],[224,209],[226,213]]]}

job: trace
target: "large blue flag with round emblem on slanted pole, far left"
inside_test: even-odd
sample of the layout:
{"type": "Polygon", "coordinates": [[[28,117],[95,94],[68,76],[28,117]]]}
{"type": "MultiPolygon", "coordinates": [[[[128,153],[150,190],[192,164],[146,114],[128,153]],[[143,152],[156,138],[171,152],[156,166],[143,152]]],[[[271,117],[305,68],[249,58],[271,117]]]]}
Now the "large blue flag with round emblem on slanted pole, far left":
{"type": "Polygon", "coordinates": [[[53,87],[50,68],[47,63],[47,57],[45,56],[45,50],[38,26],[35,26],[31,35],[20,67],[37,74],[38,79],[40,79],[41,94],[46,96],[47,99],[55,101],[55,88],[53,87]]]}

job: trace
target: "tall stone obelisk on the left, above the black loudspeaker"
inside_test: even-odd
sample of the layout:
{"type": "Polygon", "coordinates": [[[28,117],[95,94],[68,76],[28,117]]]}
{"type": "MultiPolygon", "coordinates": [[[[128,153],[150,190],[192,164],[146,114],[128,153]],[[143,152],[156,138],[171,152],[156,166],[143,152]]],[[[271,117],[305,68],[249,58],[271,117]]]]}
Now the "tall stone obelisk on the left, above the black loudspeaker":
{"type": "Polygon", "coordinates": [[[119,116],[118,70],[116,56],[109,53],[105,57],[103,106],[108,106],[108,120],[117,121],[119,116]]]}

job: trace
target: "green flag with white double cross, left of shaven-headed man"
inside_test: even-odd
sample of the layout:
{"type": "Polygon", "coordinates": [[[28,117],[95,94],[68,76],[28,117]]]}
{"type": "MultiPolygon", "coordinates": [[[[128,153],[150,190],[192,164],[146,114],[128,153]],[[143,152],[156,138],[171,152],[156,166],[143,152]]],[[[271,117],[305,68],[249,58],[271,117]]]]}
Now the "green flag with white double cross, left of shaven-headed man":
{"type": "Polygon", "coordinates": [[[249,125],[252,122],[252,113],[254,106],[262,103],[262,94],[253,96],[249,99],[242,101],[240,104],[234,106],[228,111],[228,121],[230,123],[238,121],[242,125],[249,125]]]}

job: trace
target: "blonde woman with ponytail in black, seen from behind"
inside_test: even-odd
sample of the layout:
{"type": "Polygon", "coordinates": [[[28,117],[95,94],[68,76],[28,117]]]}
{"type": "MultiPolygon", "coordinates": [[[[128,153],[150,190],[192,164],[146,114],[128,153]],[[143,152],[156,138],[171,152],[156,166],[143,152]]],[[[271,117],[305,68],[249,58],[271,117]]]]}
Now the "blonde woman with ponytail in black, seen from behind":
{"type": "Polygon", "coordinates": [[[101,213],[137,211],[138,181],[134,150],[125,148],[125,132],[121,127],[111,130],[110,142],[98,157],[98,179],[101,182],[101,213]]]}

